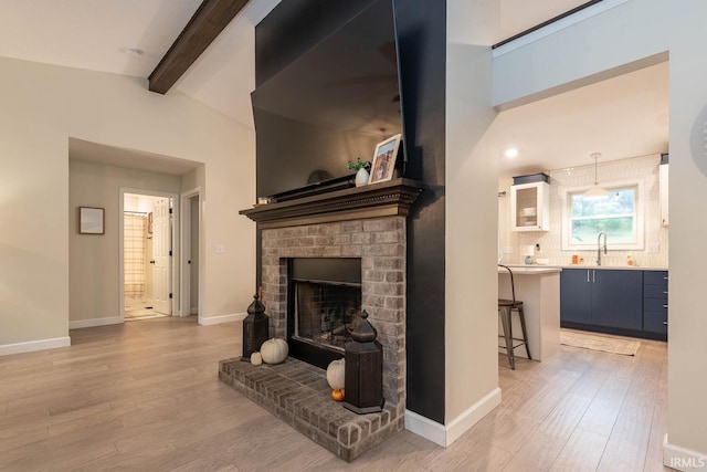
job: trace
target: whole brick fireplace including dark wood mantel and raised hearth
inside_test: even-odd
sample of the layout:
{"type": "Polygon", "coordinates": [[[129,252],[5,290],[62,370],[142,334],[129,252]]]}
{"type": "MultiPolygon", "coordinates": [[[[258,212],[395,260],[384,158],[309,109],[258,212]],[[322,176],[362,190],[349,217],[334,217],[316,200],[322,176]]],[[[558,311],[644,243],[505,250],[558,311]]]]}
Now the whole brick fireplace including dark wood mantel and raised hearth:
{"type": "MultiPolygon", "coordinates": [[[[321,411],[328,411],[325,418],[321,411],[298,408],[296,401],[288,401],[291,395],[283,399],[277,388],[291,392],[296,384],[285,371],[288,364],[309,374],[319,370],[325,378],[324,370],[303,367],[296,359],[288,358],[279,366],[260,366],[261,374],[268,369],[266,377],[272,376],[271,380],[279,387],[256,385],[263,376],[258,377],[253,370],[256,368],[246,363],[240,366],[226,359],[220,368],[222,380],[346,460],[352,460],[404,424],[405,217],[420,191],[416,182],[397,179],[241,211],[262,229],[263,303],[270,316],[271,336],[287,337],[291,260],[360,259],[360,308],[368,312],[368,321],[378,331],[383,349],[383,412],[359,416],[345,410],[330,400],[326,381],[315,382],[316,391],[302,395],[303,399],[319,395],[321,411]],[[258,380],[249,378],[251,375],[258,380]]],[[[315,385],[306,384],[307,389],[315,385]]]]}

